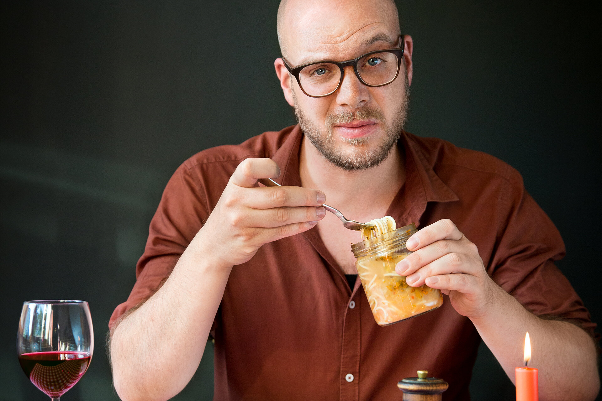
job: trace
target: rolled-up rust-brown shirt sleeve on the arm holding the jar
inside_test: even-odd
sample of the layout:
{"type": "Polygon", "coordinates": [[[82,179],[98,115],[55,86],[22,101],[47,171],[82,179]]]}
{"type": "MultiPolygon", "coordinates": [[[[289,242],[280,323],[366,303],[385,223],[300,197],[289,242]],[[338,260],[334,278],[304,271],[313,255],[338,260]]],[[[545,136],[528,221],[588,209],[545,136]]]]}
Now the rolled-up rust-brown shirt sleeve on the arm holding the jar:
{"type": "Polygon", "coordinates": [[[565,256],[559,231],[514,169],[508,184],[491,277],[533,314],[576,323],[594,336],[589,311],[554,264],[565,256]]]}

